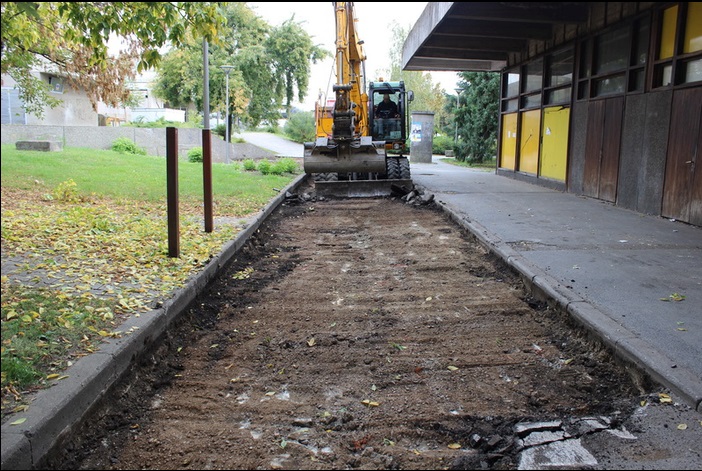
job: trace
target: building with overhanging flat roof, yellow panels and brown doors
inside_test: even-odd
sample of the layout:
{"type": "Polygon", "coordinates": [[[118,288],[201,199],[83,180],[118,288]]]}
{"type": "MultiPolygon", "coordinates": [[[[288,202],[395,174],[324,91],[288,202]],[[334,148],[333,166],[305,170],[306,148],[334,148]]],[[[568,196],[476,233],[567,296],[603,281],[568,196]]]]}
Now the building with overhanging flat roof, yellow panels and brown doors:
{"type": "Polygon", "coordinates": [[[501,74],[498,174],[702,226],[702,3],[430,3],[403,58],[501,74]]]}

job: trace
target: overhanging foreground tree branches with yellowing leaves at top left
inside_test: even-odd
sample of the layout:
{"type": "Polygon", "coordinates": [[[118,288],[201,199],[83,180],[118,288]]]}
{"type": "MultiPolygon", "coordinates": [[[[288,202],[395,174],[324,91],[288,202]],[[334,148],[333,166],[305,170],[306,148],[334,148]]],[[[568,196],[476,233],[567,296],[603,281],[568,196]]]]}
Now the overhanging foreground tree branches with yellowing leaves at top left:
{"type": "Polygon", "coordinates": [[[86,91],[93,108],[129,98],[128,81],[155,67],[160,48],[188,35],[216,41],[224,18],[216,2],[2,2],[3,74],[19,86],[27,113],[43,116],[60,100],[32,74],[42,69],[86,91]],[[108,43],[121,40],[110,56],[108,43]]]}

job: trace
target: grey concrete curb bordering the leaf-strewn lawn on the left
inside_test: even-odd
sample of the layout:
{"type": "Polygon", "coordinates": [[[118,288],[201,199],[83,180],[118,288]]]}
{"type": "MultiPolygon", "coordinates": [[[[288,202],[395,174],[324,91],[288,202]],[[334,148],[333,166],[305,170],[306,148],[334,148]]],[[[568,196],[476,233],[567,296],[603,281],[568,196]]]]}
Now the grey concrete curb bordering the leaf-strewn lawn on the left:
{"type": "Polygon", "coordinates": [[[132,364],[158,340],[175,319],[207,287],[263,221],[307,178],[298,176],[280,191],[249,226],[225,245],[205,269],[178,290],[162,308],[132,317],[118,329],[129,332],[122,338],[112,339],[100,350],[87,355],[71,366],[68,378],[57,381],[37,393],[28,411],[17,418],[26,420],[19,425],[2,425],[3,470],[38,469],[49,454],[76,430],[89,416],[98,400],[105,396],[132,364]]]}

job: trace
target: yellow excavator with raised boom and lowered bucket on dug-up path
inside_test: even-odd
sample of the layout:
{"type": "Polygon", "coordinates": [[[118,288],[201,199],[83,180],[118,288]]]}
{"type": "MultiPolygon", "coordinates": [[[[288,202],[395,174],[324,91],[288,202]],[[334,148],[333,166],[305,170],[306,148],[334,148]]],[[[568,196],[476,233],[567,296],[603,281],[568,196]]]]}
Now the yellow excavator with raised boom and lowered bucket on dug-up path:
{"type": "Polygon", "coordinates": [[[404,82],[383,79],[366,87],[353,2],[333,5],[334,99],[315,104],[316,137],[304,143],[305,173],[313,177],[317,194],[328,196],[385,196],[393,185],[411,189],[407,129],[413,92],[404,82]]]}

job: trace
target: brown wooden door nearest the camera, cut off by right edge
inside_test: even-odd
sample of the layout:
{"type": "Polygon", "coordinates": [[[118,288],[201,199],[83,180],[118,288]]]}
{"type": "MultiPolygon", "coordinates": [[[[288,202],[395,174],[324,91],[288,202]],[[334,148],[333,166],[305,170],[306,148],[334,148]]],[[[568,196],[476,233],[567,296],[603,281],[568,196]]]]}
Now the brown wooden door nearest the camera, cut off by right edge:
{"type": "Polygon", "coordinates": [[[676,91],[661,215],[702,226],[702,87],[676,91]]]}

